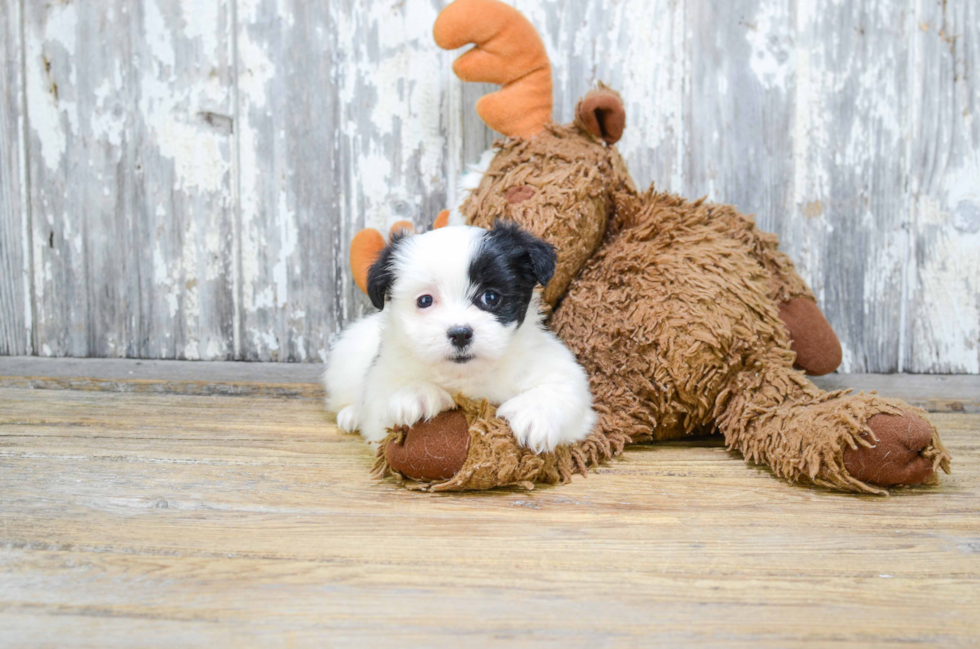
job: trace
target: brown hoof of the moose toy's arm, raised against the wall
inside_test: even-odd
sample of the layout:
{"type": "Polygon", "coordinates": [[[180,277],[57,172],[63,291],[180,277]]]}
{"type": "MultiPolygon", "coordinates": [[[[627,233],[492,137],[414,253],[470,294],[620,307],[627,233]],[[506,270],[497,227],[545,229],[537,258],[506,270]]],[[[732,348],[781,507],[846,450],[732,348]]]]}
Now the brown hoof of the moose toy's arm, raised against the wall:
{"type": "Polygon", "coordinates": [[[813,300],[796,297],[779,305],[779,318],[789,330],[796,367],[811,376],[830,374],[840,365],[837,334],[813,300]]]}

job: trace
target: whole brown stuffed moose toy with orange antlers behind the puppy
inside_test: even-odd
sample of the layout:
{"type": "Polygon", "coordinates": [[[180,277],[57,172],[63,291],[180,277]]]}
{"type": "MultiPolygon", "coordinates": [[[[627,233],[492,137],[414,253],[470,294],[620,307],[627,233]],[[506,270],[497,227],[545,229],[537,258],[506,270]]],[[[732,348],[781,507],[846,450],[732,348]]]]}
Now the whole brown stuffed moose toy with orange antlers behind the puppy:
{"type": "MultiPolygon", "coordinates": [[[[843,491],[887,493],[948,472],[921,411],[807,379],[834,371],[841,347],[774,235],[727,205],[637,191],[613,146],[626,122],[616,92],[600,84],[573,123],[553,124],[544,44],[498,0],[456,0],[434,36],[444,49],[475,45],[453,70],[502,86],[476,109],[507,136],[436,225],[510,220],[555,247],[548,324],[588,373],[599,419],[584,441],[538,455],[493,404],[458,397],[455,410],[392,431],[378,475],[432,491],[531,488],[584,475],[627,444],[716,432],[781,478],[843,491]]],[[[383,247],[375,230],[352,242],[362,289],[383,247]]]]}

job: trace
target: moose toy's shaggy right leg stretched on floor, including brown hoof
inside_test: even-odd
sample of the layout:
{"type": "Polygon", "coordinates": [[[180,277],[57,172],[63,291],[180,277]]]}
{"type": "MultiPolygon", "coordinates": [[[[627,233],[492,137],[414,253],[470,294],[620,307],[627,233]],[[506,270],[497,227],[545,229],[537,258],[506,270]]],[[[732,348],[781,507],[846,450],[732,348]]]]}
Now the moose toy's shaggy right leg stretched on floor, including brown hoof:
{"type": "Polygon", "coordinates": [[[864,493],[936,480],[949,455],[921,411],[873,394],[823,392],[773,361],[739,374],[719,399],[729,448],[790,481],[864,493]]]}

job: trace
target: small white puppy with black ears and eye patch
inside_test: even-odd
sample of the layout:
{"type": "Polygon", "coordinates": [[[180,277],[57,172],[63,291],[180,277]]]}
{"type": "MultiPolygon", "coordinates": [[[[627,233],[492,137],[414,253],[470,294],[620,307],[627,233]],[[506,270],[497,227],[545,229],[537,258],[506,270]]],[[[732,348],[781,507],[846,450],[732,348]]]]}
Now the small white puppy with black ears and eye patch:
{"type": "Polygon", "coordinates": [[[378,442],[454,408],[458,392],[499,404],[535,452],[585,438],[588,378],[534,293],[554,271],[554,249],[514,224],[393,236],[368,272],[380,312],[341,335],[323,377],[340,428],[378,442]]]}

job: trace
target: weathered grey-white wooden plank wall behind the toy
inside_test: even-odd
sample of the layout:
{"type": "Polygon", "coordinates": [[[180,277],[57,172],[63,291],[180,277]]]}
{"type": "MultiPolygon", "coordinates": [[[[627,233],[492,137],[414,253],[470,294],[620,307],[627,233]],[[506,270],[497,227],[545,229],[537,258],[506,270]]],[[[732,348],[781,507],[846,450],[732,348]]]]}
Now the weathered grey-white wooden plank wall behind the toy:
{"type": "MultiPolygon", "coordinates": [[[[622,91],[634,178],[755,213],[846,371],[980,372],[978,0],[515,3],[556,118],[622,91]]],[[[0,0],[0,354],[315,361],[347,242],[494,135],[441,0],[0,0]]]]}

